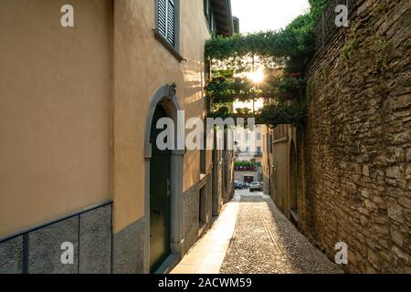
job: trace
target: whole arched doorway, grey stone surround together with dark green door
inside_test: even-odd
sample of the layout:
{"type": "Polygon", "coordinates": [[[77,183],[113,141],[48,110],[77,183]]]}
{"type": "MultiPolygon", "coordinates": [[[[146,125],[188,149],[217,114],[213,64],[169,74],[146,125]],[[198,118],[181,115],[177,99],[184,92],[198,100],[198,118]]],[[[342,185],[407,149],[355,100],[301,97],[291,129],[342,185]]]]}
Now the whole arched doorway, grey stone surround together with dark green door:
{"type": "Polygon", "coordinates": [[[144,191],[144,272],[164,273],[176,265],[182,256],[183,233],[183,172],[184,143],[179,145],[178,133],[184,130],[184,115],[175,95],[175,85],[157,89],[148,109],[145,147],[144,191]],[[174,121],[174,150],[160,151],[156,147],[157,120],[174,121]],[[183,125],[180,128],[178,125],[183,125]],[[163,224],[163,226],[162,226],[163,224]]]}

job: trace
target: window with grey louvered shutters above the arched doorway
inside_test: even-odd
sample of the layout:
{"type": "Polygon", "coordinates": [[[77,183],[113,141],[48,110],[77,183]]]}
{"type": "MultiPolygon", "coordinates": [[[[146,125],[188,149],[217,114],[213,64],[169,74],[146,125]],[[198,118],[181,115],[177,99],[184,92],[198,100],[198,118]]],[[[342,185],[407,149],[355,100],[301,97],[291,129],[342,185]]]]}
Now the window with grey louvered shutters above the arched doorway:
{"type": "Polygon", "coordinates": [[[175,46],[176,40],[176,0],[157,0],[157,28],[160,35],[167,40],[170,45],[175,46]]]}

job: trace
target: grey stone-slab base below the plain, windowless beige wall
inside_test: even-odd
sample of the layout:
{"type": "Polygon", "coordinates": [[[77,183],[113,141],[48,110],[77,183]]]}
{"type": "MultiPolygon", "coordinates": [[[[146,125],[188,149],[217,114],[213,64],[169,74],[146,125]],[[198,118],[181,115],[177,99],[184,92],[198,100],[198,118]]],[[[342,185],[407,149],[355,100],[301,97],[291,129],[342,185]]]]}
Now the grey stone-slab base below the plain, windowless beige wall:
{"type": "Polygon", "coordinates": [[[111,209],[106,203],[0,240],[0,274],[110,274],[111,209]],[[72,265],[61,262],[67,242],[72,265]]]}

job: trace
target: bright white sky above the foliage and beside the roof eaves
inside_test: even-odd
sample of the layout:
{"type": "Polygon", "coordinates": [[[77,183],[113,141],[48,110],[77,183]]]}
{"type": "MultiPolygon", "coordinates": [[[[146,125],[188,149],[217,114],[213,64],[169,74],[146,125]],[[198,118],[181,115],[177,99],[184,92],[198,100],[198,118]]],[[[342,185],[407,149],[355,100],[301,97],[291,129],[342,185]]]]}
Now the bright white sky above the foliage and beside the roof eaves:
{"type": "Polygon", "coordinates": [[[241,33],[284,28],[310,8],[308,0],[231,0],[231,6],[241,33]]]}

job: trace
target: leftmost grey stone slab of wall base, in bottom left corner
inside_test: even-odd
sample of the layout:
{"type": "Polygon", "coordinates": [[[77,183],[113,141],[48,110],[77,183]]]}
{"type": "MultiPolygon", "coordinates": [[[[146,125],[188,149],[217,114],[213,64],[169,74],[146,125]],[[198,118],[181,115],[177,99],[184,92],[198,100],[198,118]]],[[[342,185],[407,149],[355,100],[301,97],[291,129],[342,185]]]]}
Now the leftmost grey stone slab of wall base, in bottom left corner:
{"type": "Polygon", "coordinates": [[[23,236],[0,243],[0,274],[23,272],[23,236]]]}

